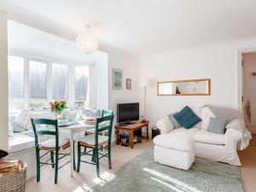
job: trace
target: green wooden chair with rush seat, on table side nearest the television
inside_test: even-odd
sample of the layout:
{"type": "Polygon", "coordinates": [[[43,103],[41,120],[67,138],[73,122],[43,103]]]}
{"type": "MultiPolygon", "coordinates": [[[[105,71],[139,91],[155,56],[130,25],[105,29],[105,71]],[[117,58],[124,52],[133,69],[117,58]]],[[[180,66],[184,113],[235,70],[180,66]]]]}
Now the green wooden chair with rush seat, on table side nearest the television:
{"type": "Polygon", "coordinates": [[[96,173],[97,173],[97,177],[99,177],[99,175],[100,175],[99,160],[102,159],[105,156],[108,157],[109,169],[112,168],[112,164],[111,164],[112,127],[113,127],[113,114],[108,115],[106,117],[96,119],[95,134],[90,134],[88,136],[85,136],[78,143],[78,169],[77,169],[77,172],[79,172],[79,170],[80,170],[80,163],[81,162],[89,163],[89,164],[92,164],[92,165],[96,165],[96,173]],[[106,121],[108,122],[107,125],[100,126],[100,124],[102,122],[106,122],[106,121]],[[100,133],[102,131],[108,131],[108,136],[100,135],[100,133]],[[107,146],[105,146],[105,145],[107,145],[107,146]],[[103,147],[103,146],[105,146],[105,147],[103,147]],[[91,148],[91,150],[88,151],[88,152],[86,152],[86,150],[84,152],[81,152],[82,147],[91,148]],[[102,147],[108,149],[108,153],[106,153],[106,154],[100,153],[99,149],[102,148],[102,147]],[[91,162],[81,160],[81,156],[86,155],[86,154],[92,156],[91,162]]]}

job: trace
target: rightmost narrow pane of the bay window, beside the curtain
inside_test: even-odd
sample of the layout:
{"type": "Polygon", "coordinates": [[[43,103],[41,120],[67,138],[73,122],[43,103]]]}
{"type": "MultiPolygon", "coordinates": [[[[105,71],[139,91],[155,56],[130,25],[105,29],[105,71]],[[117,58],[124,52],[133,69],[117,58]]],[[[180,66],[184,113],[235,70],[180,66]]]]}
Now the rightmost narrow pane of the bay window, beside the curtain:
{"type": "Polygon", "coordinates": [[[75,67],[75,102],[84,105],[87,96],[89,67],[75,67]]]}

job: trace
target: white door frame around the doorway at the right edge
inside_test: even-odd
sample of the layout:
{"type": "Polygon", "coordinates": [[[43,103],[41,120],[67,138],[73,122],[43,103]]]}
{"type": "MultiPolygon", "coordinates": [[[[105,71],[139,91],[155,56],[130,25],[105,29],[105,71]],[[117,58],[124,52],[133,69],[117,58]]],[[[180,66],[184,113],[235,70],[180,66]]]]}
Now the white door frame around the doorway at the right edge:
{"type": "Polygon", "coordinates": [[[242,54],[256,53],[256,47],[238,50],[238,106],[241,115],[244,117],[244,67],[242,67],[242,54]],[[243,97],[243,101],[241,98],[243,97]]]}

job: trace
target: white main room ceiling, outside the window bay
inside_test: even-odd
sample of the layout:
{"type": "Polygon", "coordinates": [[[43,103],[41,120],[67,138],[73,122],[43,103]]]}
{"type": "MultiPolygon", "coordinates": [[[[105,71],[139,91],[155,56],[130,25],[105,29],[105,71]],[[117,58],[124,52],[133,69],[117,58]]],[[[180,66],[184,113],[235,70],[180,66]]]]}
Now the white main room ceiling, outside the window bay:
{"type": "Polygon", "coordinates": [[[102,44],[134,55],[256,35],[255,0],[9,0],[67,30],[85,24],[102,44]]]}

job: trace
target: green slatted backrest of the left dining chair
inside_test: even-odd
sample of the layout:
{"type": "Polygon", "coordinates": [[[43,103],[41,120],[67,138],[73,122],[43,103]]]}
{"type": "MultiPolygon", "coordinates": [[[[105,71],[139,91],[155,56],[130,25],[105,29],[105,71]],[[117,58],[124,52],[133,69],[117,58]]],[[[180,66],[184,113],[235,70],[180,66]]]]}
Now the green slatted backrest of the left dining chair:
{"type": "MultiPolygon", "coordinates": [[[[35,136],[35,147],[38,148],[38,136],[40,135],[50,135],[55,136],[55,148],[59,146],[59,128],[58,120],[55,119],[31,119],[32,129],[35,136]],[[40,130],[37,130],[37,125],[51,125],[55,127],[55,131],[44,130],[40,127],[40,130]]],[[[46,127],[45,127],[46,129],[46,127]]]]}

